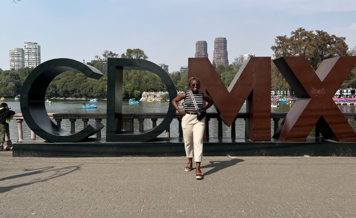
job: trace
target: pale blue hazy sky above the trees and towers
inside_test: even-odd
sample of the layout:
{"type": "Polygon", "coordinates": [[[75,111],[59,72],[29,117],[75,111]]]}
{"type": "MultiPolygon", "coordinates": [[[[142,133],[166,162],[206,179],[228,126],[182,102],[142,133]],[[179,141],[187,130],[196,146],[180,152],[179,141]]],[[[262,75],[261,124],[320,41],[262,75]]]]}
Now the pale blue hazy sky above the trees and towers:
{"type": "Polygon", "coordinates": [[[240,55],[272,56],[276,36],[299,27],[345,37],[356,46],[355,0],[12,0],[0,1],[0,68],[9,49],[41,45],[41,62],[54,58],[91,61],[104,50],[139,48],[148,60],[188,65],[195,43],[226,37],[229,64],[240,55]]]}

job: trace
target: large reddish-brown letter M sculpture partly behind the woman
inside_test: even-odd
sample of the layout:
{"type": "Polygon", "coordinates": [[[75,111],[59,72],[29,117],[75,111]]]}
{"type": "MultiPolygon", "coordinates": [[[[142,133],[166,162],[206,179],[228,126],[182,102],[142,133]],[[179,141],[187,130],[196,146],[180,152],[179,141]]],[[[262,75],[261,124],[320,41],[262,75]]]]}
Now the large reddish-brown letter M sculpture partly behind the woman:
{"type": "Polygon", "coordinates": [[[271,58],[253,57],[243,63],[228,89],[208,58],[188,59],[189,77],[198,77],[201,90],[227,126],[247,99],[246,137],[251,141],[271,141],[271,58]]]}

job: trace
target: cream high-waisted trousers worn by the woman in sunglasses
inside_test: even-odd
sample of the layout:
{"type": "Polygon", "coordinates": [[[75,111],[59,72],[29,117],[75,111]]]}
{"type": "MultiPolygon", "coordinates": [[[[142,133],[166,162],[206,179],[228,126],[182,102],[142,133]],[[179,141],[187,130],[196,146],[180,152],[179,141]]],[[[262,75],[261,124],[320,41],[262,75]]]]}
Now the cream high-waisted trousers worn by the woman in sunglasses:
{"type": "Polygon", "coordinates": [[[203,135],[205,119],[199,121],[197,114],[186,114],[182,118],[184,146],[187,157],[193,157],[194,161],[202,162],[203,159],[203,135]]]}

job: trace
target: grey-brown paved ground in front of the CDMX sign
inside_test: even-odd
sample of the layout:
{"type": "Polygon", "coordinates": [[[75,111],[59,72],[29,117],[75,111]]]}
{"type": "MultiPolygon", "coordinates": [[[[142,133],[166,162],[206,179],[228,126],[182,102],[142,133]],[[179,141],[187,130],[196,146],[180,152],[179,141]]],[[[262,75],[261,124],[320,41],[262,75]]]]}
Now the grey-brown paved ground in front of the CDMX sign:
{"type": "Polygon", "coordinates": [[[0,152],[0,217],[356,217],[356,157],[33,158],[0,152]]]}

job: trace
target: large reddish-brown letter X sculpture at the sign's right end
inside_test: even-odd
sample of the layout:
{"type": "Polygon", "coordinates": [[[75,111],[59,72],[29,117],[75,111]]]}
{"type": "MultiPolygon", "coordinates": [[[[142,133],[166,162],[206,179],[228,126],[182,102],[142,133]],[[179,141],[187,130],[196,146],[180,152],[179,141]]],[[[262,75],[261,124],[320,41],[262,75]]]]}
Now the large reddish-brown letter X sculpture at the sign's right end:
{"type": "Polygon", "coordinates": [[[356,57],[324,60],[315,72],[304,57],[283,57],[273,62],[298,97],[274,138],[305,141],[316,125],[326,139],[356,141],[356,134],[332,100],[356,65],[356,57]]]}

